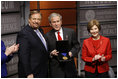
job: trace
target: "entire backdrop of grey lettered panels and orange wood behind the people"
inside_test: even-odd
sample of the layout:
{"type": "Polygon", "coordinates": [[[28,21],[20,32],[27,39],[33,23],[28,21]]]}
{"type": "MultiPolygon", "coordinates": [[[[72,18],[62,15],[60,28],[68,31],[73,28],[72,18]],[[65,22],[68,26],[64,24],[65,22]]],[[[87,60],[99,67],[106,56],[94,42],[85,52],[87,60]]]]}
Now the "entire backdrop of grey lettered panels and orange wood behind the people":
{"type": "MultiPolygon", "coordinates": [[[[101,34],[110,38],[113,58],[109,62],[117,77],[117,1],[2,1],[1,2],[1,39],[6,46],[16,42],[17,33],[28,24],[30,10],[39,10],[42,15],[41,27],[45,33],[50,31],[48,16],[58,12],[63,16],[63,27],[72,28],[77,33],[81,46],[90,37],[86,25],[91,19],[101,23],[101,34]]],[[[75,58],[78,75],[84,77],[84,62],[81,51],[75,58]]],[[[17,75],[18,57],[7,63],[8,77],[17,75]]]]}

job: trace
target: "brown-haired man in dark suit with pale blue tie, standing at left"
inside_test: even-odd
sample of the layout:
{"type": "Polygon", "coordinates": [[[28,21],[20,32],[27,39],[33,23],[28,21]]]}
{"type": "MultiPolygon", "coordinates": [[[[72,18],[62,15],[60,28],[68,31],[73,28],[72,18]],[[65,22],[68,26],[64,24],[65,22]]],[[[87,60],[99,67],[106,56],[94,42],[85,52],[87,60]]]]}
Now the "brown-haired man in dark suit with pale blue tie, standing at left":
{"type": "Polygon", "coordinates": [[[18,34],[19,77],[42,78],[48,75],[49,54],[43,30],[39,27],[41,19],[39,11],[31,11],[29,25],[25,26],[18,34]]]}

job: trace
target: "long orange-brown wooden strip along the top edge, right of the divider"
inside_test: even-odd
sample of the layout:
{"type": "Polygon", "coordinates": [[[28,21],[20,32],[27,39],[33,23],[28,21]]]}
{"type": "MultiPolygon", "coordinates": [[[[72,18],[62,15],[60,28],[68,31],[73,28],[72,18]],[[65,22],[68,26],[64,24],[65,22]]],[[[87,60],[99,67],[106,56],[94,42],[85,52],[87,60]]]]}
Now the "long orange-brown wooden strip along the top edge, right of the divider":
{"type": "Polygon", "coordinates": [[[76,1],[40,1],[40,9],[76,8],[76,1]]]}

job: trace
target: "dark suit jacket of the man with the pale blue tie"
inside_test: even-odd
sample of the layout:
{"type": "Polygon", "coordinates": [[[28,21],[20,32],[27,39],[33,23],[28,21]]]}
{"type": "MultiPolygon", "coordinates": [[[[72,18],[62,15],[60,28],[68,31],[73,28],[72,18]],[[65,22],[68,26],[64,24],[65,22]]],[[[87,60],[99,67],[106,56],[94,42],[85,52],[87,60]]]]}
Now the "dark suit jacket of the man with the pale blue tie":
{"type": "MultiPolygon", "coordinates": [[[[42,32],[42,29],[39,28],[42,32]]],[[[43,34],[44,35],[44,34],[43,34]]],[[[20,44],[18,56],[19,77],[47,77],[48,52],[34,30],[27,25],[18,34],[17,43],[20,44]]]]}

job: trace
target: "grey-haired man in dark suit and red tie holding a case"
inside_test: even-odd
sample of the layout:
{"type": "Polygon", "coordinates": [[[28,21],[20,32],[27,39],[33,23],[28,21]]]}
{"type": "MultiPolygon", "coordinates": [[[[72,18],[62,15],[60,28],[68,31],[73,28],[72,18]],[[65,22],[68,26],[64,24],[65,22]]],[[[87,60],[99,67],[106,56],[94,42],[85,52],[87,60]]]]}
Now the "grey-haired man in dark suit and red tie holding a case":
{"type": "Polygon", "coordinates": [[[78,55],[80,50],[79,42],[77,41],[74,30],[62,27],[62,16],[58,13],[52,13],[49,17],[50,26],[53,29],[46,34],[48,48],[51,55],[50,58],[50,77],[53,78],[72,78],[77,77],[77,71],[74,63],[74,56],[78,55]],[[60,34],[59,34],[60,32],[60,34]],[[68,40],[69,41],[69,56],[71,61],[60,62],[58,61],[59,52],[56,49],[56,41],[68,40]]]}

